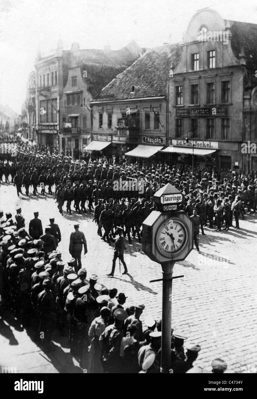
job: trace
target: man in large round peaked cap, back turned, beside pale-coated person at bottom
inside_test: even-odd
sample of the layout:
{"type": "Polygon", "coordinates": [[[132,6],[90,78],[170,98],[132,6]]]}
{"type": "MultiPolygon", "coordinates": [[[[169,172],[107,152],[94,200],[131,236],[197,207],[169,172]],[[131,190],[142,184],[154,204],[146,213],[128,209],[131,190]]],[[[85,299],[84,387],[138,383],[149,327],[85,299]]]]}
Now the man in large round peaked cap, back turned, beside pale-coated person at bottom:
{"type": "Polygon", "coordinates": [[[104,370],[108,367],[109,373],[119,373],[121,369],[120,346],[124,337],[122,325],[128,317],[124,309],[116,309],[114,312],[114,324],[106,327],[100,335],[99,344],[102,348],[102,364],[104,370]]]}

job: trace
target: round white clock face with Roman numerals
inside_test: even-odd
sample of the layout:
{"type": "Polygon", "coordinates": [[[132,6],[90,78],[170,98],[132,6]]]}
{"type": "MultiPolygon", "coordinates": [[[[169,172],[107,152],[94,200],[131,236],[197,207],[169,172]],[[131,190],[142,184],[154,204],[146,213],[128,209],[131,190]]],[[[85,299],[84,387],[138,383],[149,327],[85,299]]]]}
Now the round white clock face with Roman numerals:
{"type": "Polygon", "coordinates": [[[156,245],[163,255],[180,251],[186,240],[186,228],[179,219],[167,219],[157,230],[156,245]]]}

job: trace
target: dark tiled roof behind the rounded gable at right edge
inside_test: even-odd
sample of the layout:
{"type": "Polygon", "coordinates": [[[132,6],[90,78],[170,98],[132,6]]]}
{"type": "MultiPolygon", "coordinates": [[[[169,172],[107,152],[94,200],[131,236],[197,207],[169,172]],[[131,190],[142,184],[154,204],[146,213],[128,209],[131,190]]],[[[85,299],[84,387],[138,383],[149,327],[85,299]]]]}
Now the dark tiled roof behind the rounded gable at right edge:
{"type": "Polygon", "coordinates": [[[231,48],[235,57],[239,58],[243,47],[246,57],[246,65],[249,72],[257,70],[257,25],[248,22],[230,21],[231,48]]]}

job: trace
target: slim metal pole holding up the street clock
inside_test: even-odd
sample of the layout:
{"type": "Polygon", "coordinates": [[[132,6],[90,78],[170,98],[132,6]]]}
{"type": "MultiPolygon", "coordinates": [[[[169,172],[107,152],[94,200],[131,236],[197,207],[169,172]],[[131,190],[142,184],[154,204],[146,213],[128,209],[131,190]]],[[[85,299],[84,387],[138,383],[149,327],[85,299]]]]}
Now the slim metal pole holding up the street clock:
{"type": "Polygon", "coordinates": [[[161,373],[171,367],[171,299],[172,275],[175,262],[161,263],[163,269],[163,310],[161,324],[161,373]]]}

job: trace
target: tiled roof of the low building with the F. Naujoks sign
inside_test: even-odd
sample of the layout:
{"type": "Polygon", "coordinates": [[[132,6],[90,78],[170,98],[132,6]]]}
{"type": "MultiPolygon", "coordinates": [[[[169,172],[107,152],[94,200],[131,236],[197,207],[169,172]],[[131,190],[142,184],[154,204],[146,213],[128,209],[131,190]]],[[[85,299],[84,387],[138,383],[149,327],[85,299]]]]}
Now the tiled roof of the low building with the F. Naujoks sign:
{"type": "Polygon", "coordinates": [[[171,61],[180,59],[180,45],[168,44],[148,50],[125,71],[116,76],[91,101],[117,101],[167,94],[171,61]],[[131,87],[135,92],[131,93],[131,87]]]}

